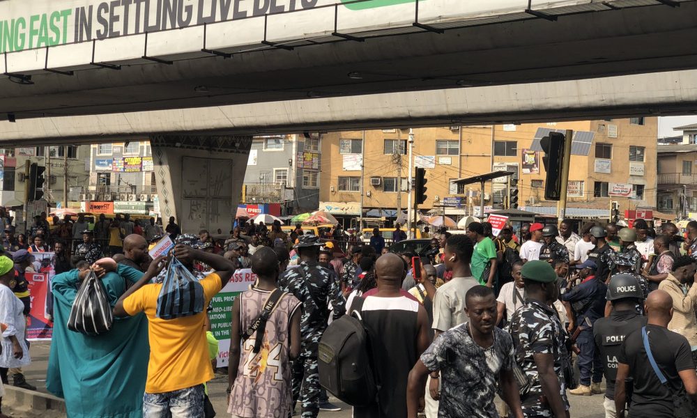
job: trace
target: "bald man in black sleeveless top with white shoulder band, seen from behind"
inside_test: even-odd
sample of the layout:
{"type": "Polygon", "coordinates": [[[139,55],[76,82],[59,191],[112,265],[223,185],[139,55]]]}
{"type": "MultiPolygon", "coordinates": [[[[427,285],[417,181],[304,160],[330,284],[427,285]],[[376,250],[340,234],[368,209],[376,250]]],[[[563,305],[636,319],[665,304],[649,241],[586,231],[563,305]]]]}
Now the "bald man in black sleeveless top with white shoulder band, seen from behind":
{"type": "Polygon", "coordinates": [[[419,302],[400,293],[406,277],[404,261],[385,254],[375,263],[377,293],[355,297],[352,309],[378,338],[373,341],[376,373],[381,376],[378,405],[354,407],[355,418],[406,418],[406,382],[409,371],[429,346],[429,319],[419,302]]]}

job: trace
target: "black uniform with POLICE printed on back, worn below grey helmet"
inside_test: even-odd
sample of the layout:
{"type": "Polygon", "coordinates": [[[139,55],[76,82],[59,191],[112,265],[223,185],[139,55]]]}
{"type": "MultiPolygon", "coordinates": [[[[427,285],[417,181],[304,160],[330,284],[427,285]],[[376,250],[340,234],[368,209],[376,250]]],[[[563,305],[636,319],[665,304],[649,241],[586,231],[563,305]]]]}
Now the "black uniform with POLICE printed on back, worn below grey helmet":
{"type": "Polygon", "coordinates": [[[600,318],[593,325],[595,349],[599,350],[603,362],[603,374],[607,388],[605,397],[615,398],[618,356],[625,336],[646,325],[646,318],[636,311],[612,311],[608,318],[600,318]]]}

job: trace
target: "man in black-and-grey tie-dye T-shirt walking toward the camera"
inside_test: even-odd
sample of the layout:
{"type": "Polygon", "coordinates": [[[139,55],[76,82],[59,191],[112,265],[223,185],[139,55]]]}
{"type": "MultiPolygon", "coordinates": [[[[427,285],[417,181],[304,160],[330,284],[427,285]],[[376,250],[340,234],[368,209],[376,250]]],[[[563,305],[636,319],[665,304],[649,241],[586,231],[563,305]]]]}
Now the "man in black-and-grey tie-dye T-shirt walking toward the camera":
{"type": "Polygon", "coordinates": [[[438,417],[498,418],[496,382],[514,418],[523,418],[513,376],[510,334],[496,327],[496,298],[491,288],[475,286],[465,295],[468,322],[440,334],[409,373],[408,418],[416,418],[426,376],[441,371],[438,417]],[[463,394],[466,394],[463,396],[463,394]]]}

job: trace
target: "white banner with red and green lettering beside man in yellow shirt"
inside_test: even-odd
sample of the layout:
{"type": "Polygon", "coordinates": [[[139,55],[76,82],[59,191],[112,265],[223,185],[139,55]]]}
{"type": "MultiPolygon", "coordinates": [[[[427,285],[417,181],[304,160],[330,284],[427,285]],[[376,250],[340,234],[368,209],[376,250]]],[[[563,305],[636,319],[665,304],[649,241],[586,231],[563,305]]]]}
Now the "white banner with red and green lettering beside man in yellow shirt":
{"type": "Polygon", "coordinates": [[[208,317],[210,318],[210,331],[213,332],[218,341],[218,367],[227,366],[229,361],[227,356],[230,350],[232,302],[237,295],[250,288],[254,281],[256,281],[256,274],[252,273],[252,269],[237,270],[220,293],[211,300],[213,311],[208,314],[208,317]]]}

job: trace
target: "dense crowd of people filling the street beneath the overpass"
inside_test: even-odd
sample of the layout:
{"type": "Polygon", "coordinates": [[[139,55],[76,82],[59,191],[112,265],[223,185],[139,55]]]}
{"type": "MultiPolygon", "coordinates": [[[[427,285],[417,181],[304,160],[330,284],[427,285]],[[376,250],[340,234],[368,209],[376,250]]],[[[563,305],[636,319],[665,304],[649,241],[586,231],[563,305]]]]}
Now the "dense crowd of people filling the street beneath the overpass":
{"type": "MultiPolygon", "coordinates": [[[[208,231],[182,233],[175,219],[147,231],[127,217],[114,226],[120,246],[103,249],[95,226],[71,252],[42,234],[41,221],[30,247],[3,245],[0,256],[0,376],[36,389],[21,369],[31,362],[24,272],[53,240],[46,386],[71,417],[215,414],[206,382],[217,341],[206,310],[173,319],[158,311],[171,258],[152,260],[148,248],[164,234],[209,309],[233,272],[256,274],[230,306],[233,418],[339,410],[320,385],[319,363],[328,356],[323,334],[344,315],[368,331],[369,364],[355,366],[378,382],[374,398],[353,406],[357,418],[570,417],[569,396],[594,395],[606,417],[696,416],[697,222],[687,238],[674,224],[654,231],[641,220],[632,228],[589,223],[576,234],[565,219],[506,226],[498,236],[472,222],[466,234],[441,231],[420,256],[393,254],[377,239],[337,242],[300,226],[286,233],[279,222],[237,226],[221,242],[208,231]],[[66,325],[91,272],[120,318],[96,336],[66,325]]],[[[5,240],[17,242],[4,222],[5,240]]]]}

